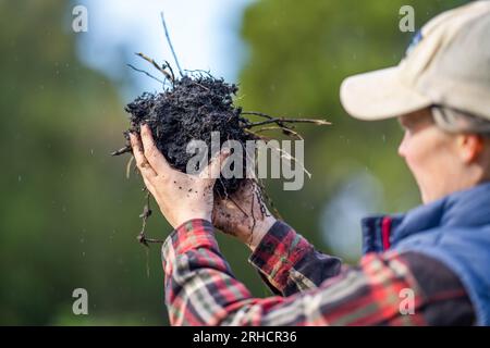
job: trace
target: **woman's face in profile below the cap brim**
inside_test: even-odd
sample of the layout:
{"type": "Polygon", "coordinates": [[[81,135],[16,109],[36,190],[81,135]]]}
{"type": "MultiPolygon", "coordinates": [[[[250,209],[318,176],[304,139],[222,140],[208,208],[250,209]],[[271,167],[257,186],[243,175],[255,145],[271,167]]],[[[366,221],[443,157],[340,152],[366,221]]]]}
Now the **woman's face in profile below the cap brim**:
{"type": "Polygon", "coordinates": [[[399,154],[405,159],[424,203],[461,188],[456,137],[434,124],[429,109],[399,117],[405,135],[399,154]]]}

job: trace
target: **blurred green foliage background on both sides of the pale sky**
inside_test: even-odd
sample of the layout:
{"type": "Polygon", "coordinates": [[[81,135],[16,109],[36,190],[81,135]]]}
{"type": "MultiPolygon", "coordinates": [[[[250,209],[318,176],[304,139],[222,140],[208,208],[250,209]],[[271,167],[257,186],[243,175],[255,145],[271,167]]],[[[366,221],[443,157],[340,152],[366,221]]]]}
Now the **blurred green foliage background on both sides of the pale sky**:
{"type": "MultiPolygon", "coordinates": [[[[402,5],[414,7],[420,28],[463,2],[264,0],[241,10],[232,33],[245,47],[236,50],[237,103],[333,123],[299,127],[313,173],[302,190],[268,182],[284,220],[318,249],[355,263],[360,216],[419,203],[396,154],[397,123],[347,117],[339,101],[342,79],[400,61],[413,35],[399,29],[402,5]]],[[[75,4],[0,1],[0,324],[167,324],[159,247],[146,250],[135,239],[143,184],[137,175],[126,179],[127,157],[109,156],[127,126],[124,90],[133,88],[132,97],[144,90],[132,82],[124,55],[112,62],[120,65],[115,77],[81,60],[81,36],[71,29],[75,4]],[[72,312],[78,287],[88,291],[88,315],[72,312]]],[[[161,215],[152,216],[151,236],[170,231],[161,215]]],[[[255,296],[269,296],[247,249],[219,239],[235,275],[255,296]]]]}

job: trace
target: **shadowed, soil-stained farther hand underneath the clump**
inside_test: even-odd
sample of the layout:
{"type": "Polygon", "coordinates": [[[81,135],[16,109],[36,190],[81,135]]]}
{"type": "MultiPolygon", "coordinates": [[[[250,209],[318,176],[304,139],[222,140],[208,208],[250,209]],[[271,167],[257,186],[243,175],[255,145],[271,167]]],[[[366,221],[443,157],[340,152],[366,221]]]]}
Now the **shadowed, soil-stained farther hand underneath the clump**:
{"type": "Polygon", "coordinates": [[[215,197],[212,224],[248,245],[252,250],[275,221],[264,203],[257,184],[249,178],[229,197],[215,197]]]}

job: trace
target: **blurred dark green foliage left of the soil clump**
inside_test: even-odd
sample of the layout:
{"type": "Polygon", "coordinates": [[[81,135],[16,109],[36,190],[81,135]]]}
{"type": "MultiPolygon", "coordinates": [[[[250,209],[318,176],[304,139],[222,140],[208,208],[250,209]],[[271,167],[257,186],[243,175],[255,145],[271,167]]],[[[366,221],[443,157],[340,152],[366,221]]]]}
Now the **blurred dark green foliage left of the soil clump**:
{"type": "Polygon", "coordinates": [[[127,158],[109,157],[122,145],[123,103],[78,61],[71,10],[0,1],[0,323],[164,323],[159,249],[147,277],[135,239],[143,184],[125,178],[127,158]],[[72,313],[78,287],[87,316],[72,313]]]}

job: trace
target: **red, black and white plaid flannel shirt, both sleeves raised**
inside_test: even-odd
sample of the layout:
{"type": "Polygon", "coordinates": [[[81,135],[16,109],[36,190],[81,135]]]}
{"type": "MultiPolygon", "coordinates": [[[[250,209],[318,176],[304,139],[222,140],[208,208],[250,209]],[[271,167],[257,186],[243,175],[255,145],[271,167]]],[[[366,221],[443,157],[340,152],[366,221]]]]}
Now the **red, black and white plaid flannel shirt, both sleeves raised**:
{"type": "Polygon", "coordinates": [[[365,254],[358,266],[341,265],[283,222],[271,227],[249,258],[277,296],[254,298],[234,277],[213,234],[210,222],[191,220],[163,244],[166,303],[172,325],[451,325],[474,321],[463,286],[438,261],[388,251],[365,254]]]}

